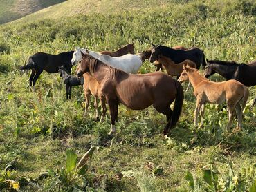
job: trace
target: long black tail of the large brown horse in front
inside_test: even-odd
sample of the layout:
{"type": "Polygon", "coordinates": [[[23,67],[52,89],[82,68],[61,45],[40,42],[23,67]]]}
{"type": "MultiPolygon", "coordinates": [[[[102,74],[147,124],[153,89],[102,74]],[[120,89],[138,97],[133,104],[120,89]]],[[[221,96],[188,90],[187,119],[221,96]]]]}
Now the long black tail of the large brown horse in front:
{"type": "Polygon", "coordinates": [[[172,116],[170,119],[170,124],[169,124],[169,129],[168,132],[170,131],[171,128],[173,128],[181,115],[181,109],[183,106],[183,99],[184,99],[184,93],[183,93],[183,87],[179,83],[179,81],[175,81],[175,86],[177,90],[177,95],[174,103],[174,110],[172,111],[172,116]]]}

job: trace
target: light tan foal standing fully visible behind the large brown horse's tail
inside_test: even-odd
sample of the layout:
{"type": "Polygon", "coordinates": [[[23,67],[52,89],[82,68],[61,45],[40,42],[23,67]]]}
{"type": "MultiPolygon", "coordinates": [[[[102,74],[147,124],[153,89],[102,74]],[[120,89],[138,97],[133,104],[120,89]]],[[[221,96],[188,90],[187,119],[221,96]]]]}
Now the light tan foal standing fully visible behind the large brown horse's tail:
{"type": "Polygon", "coordinates": [[[228,104],[228,124],[227,130],[230,130],[234,113],[237,111],[237,131],[241,130],[241,121],[243,118],[243,109],[249,96],[249,90],[246,86],[236,80],[228,80],[223,82],[212,82],[201,76],[195,68],[191,68],[187,64],[183,66],[178,81],[183,82],[189,79],[194,88],[196,96],[196,109],[194,110],[194,126],[198,126],[197,116],[201,115],[201,124],[203,126],[203,115],[205,103],[221,104],[226,100],[228,104]]]}

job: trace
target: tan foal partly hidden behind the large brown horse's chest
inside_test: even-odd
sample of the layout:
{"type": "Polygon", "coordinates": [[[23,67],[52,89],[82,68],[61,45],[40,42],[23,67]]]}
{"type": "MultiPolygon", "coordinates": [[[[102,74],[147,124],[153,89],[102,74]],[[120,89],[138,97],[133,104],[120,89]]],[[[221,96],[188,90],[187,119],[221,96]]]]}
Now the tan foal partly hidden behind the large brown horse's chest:
{"type": "Polygon", "coordinates": [[[106,111],[107,111],[106,99],[102,95],[100,84],[94,77],[92,77],[89,73],[84,73],[83,77],[84,77],[83,87],[84,87],[84,97],[85,97],[84,115],[87,115],[90,97],[91,95],[93,95],[94,107],[96,110],[95,118],[97,120],[99,119],[97,98],[100,99],[100,106],[102,107],[102,115],[100,117],[100,122],[101,122],[102,119],[106,116],[106,111]]]}

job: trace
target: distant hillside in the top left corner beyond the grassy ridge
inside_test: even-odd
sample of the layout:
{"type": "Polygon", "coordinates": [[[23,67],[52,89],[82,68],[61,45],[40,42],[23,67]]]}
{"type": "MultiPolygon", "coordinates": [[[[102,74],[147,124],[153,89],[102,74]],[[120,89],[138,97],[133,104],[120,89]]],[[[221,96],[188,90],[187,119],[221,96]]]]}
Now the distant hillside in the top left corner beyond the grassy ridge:
{"type": "Polygon", "coordinates": [[[1,0],[0,24],[19,19],[66,0],[1,0]]]}

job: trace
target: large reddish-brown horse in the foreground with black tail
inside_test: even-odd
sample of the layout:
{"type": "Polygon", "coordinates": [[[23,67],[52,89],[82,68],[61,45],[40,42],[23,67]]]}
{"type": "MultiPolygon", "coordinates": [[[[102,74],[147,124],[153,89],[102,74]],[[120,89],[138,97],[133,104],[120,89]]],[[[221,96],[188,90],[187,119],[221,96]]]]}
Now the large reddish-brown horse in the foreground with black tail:
{"type": "Polygon", "coordinates": [[[118,120],[118,104],[122,103],[133,110],[145,109],[151,105],[167,117],[164,134],[169,133],[179,120],[183,104],[183,88],[181,84],[163,73],[147,73],[134,75],[112,68],[102,61],[82,53],[82,60],[77,66],[77,76],[89,72],[102,88],[107,99],[111,115],[111,131],[116,132],[115,122],[118,120]],[[174,111],[170,104],[175,99],[174,111]]]}

